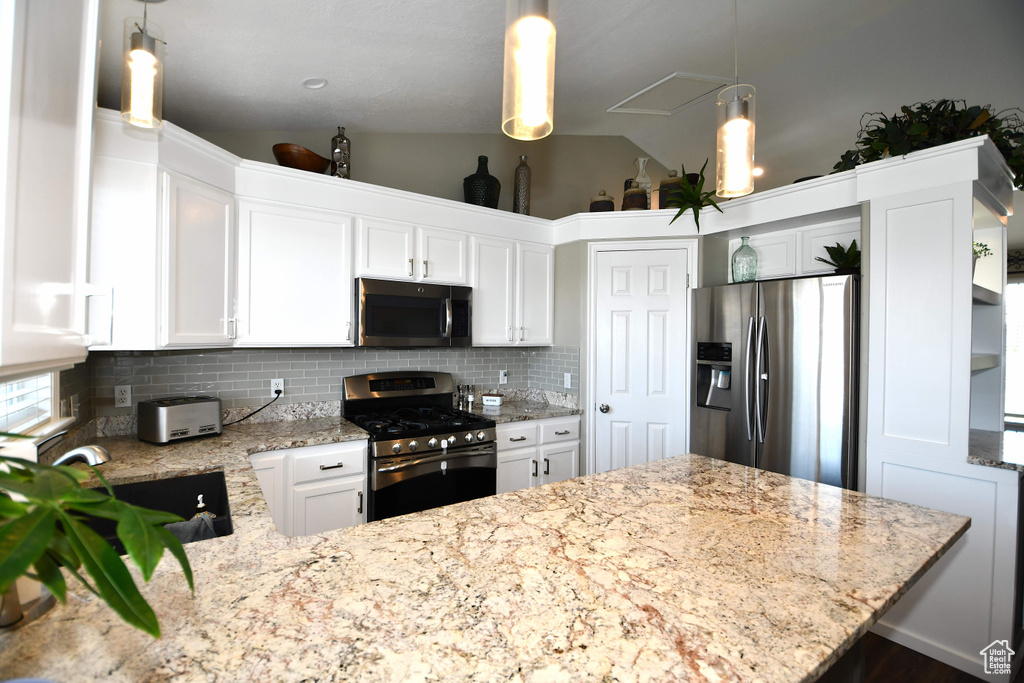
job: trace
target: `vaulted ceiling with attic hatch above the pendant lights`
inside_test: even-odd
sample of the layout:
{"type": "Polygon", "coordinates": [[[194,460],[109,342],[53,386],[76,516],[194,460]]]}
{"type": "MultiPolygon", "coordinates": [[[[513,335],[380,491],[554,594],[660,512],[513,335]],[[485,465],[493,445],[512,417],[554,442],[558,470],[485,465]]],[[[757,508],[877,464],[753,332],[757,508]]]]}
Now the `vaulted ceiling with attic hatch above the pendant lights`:
{"type": "MultiPolygon", "coordinates": [[[[100,105],[119,105],[123,22],[141,9],[103,0],[100,105]]],[[[864,112],[1024,105],[1020,0],[738,0],[737,13],[758,189],[827,173],[864,112]]],[[[677,72],[731,80],[732,2],[558,0],[554,18],[556,135],[622,135],[676,168],[714,157],[713,98],[671,116],[607,110],[677,72]]],[[[166,0],[150,19],[167,41],[165,117],[188,130],[500,130],[502,0],[166,0]],[[328,85],[303,88],[310,77],[328,85]]]]}

